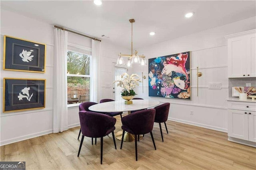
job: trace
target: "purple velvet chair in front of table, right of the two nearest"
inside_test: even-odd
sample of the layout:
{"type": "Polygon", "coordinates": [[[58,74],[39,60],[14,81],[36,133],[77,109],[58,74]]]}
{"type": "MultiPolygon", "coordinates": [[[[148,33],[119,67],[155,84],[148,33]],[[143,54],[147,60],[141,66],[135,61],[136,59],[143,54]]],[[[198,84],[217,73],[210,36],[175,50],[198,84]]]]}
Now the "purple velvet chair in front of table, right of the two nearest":
{"type": "Polygon", "coordinates": [[[134,134],[135,137],[135,156],[136,161],[138,160],[138,154],[137,154],[137,136],[140,134],[147,134],[150,133],[154,148],[156,150],[156,145],[154,141],[154,137],[152,134],[152,129],[154,126],[154,119],[155,119],[156,110],[155,109],[147,109],[142,111],[134,112],[130,115],[127,115],[123,117],[122,120],[122,141],[121,141],[121,147],[123,145],[124,141],[124,132],[129,132],[131,134],[134,134]]]}

